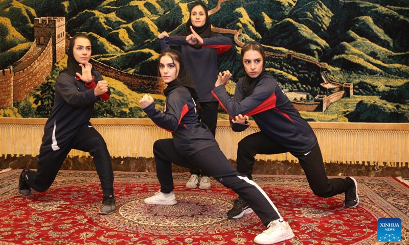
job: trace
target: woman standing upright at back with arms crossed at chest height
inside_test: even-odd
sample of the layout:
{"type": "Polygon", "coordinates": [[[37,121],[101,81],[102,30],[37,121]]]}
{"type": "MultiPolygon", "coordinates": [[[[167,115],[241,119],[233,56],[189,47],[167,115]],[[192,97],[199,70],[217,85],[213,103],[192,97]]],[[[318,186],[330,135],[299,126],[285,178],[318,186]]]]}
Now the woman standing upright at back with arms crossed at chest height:
{"type": "MultiPolygon", "coordinates": [[[[180,51],[196,85],[200,103],[199,117],[213,136],[216,135],[218,102],[212,96],[214,81],[217,79],[217,55],[230,50],[232,40],[211,29],[208,10],[202,3],[195,3],[190,9],[185,30],[169,36],[167,32],[158,35],[162,51],[170,47],[180,51]]],[[[187,188],[209,189],[209,174],[198,168],[190,169],[191,177],[187,188]],[[199,177],[201,178],[199,180],[199,177]]]]}

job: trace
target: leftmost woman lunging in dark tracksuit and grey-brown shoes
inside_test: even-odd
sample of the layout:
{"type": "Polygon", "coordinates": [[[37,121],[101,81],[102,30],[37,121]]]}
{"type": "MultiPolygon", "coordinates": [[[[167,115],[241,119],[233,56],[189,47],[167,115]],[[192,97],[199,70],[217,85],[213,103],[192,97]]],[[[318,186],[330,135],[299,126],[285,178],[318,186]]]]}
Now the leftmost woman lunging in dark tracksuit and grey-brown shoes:
{"type": "Polygon", "coordinates": [[[46,191],[72,149],[88,152],[94,160],[103,190],[100,214],[115,211],[111,157],[102,136],[89,119],[94,104],[109,98],[108,84],[88,61],[91,41],[83,34],[70,40],[67,67],[55,82],[54,106],[44,127],[37,171],[23,169],[18,193],[29,195],[31,188],[46,191]]]}

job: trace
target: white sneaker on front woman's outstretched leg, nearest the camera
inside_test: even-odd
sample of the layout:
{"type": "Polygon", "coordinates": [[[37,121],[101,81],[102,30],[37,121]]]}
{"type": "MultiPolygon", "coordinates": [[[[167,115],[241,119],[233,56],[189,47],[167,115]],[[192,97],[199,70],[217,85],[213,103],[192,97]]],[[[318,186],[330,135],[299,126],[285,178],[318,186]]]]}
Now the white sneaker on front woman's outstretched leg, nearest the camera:
{"type": "Polygon", "coordinates": [[[258,244],[272,244],[294,237],[291,227],[283,219],[276,219],[270,222],[267,228],[267,230],[254,238],[254,242],[258,244]]]}

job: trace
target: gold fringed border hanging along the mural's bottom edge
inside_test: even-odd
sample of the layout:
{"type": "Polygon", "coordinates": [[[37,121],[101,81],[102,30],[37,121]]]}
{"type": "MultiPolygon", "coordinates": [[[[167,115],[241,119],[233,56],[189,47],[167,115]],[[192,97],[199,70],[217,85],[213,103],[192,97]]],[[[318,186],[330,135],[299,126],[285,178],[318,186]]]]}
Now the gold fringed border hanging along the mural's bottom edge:
{"type": "MultiPolygon", "coordinates": [[[[37,156],[46,118],[0,118],[0,151],[3,156],[37,156]]],[[[104,137],[112,157],[153,158],[157,139],[171,134],[150,119],[92,119],[104,137]]],[[[237,143],[258,132],[254,121],[243,132],[233,132],[228,120],[219,120],[216,140],[229,159],[236,159],[237,143]]],[[[352,122],[309,122],[321,146],[325,162],[409,167],[409,124],[368,124],[352,122]]],[[[69,156],[89,156],[78,150],[69,156]]],[[[257,160],[290,161],[289,153],[257,155],[257,160]]]]}

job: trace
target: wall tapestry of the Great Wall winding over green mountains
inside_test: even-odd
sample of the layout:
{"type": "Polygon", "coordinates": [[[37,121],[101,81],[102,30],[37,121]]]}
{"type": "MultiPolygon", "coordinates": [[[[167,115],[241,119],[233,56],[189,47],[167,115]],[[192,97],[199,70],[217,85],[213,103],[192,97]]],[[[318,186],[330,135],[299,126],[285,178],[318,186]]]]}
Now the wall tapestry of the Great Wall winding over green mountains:
{"type": "MultiPolygon", "coordinates": [[[[94,69],[112,95],[95,117],[143,118],[156,104],[157,35],[185,28],[196,1],[6,0],[0,2],[0,116],[48,117],[70,36],[92,38],[94,69]]],[[[243,43],[259,41],[266,67],[309,121],[409,122],[409,2],[209,0],[213,31],[232,38],[218,57],[234,93],[243,43]]],[[[226,119],[220,110],[220,119],[226,119]]]]}

